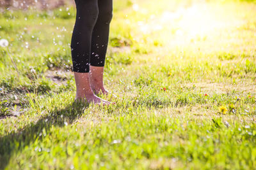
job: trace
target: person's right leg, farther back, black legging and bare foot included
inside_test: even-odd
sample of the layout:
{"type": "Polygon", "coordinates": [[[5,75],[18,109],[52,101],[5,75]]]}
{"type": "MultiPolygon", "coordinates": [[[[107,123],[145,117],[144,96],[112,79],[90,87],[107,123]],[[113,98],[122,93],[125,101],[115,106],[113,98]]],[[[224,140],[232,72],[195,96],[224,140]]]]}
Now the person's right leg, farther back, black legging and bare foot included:
{"type": "Polygon", "coordinates": [[[92,48],[90,58],[90,83],[95,94],[108,94],[104,88],[103,73],[108,48],[109,24],[112,19],[112,0],[98,0],[99,15],[92,33],[92,48]]]}

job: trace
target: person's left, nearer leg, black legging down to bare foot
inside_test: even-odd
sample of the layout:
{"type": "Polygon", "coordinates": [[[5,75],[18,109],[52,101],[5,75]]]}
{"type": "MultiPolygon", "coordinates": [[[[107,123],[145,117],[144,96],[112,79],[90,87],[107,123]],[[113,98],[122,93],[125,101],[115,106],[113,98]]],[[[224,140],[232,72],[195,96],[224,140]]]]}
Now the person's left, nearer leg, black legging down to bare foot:
{"type": "Polygon", "coordinates": [[[76,8],[76,24],[70,45],[77,89],[76,100],[85,98],[89,103],[108,103],[93,94],[89,80],[92,30],[99,14],[97,0],[76,0],[76,8]]]}

